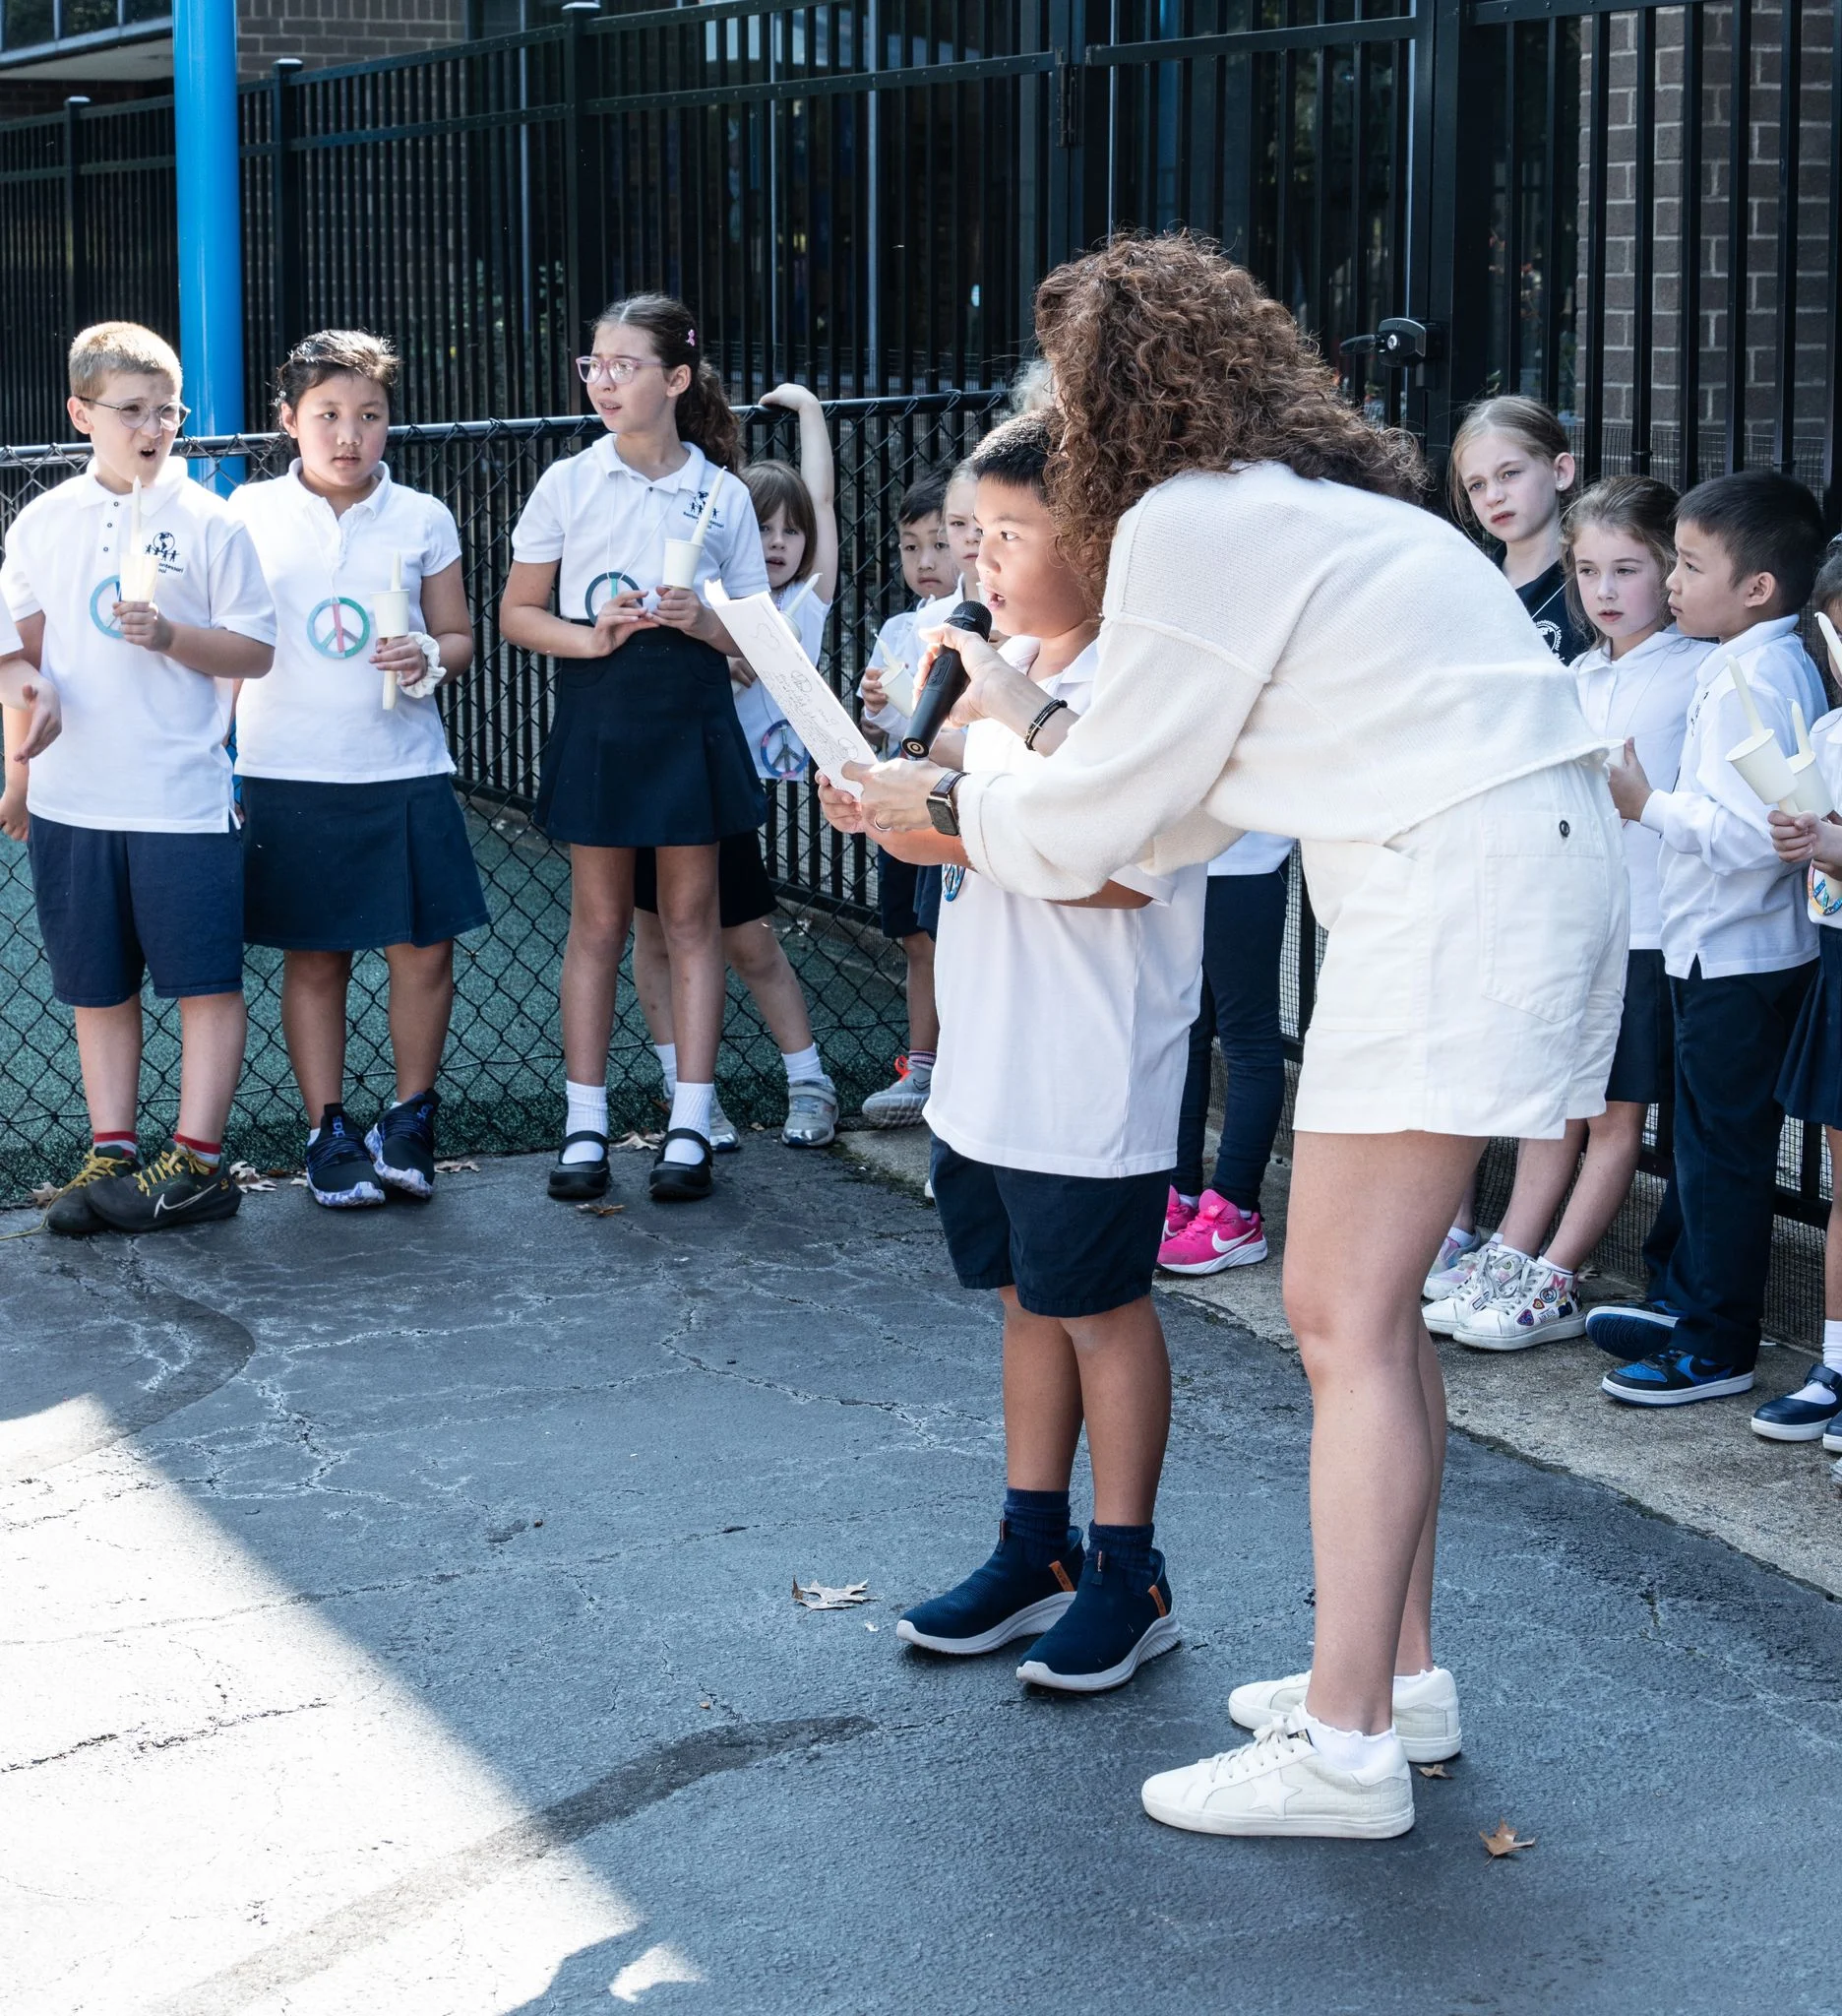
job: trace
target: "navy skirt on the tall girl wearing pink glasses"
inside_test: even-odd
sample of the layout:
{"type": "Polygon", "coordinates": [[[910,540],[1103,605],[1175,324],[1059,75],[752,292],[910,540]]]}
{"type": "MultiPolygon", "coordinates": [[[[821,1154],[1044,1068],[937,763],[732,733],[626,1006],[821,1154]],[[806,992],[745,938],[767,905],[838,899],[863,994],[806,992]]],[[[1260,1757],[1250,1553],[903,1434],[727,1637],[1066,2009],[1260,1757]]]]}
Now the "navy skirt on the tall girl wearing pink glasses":
{"type": "Polygon", "coordinates": [[[562,659],[536,823],[574,847],[707,847],[768,816],[730,661],[673,629],[562,659]]]}

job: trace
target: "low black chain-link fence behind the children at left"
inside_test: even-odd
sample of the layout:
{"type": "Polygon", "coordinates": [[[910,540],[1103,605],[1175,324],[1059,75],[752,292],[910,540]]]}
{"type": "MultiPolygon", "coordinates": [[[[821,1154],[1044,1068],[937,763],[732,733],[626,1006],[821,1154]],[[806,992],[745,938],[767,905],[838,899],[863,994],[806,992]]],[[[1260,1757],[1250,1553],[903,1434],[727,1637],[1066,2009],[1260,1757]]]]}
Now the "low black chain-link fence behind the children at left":
{"type": "MultiPolygon", "coordinates": [[[[852,399],[826,407],[838,462],[840,589],[822,669],[854,691],[877,627],[911,597],[897,554],[895,508],[921,474],[957,462],[985,431],[1002,393],[929,393],[852,399]]],[[[788,415],[744,415],[752,460],[798,462],[788,415]]],[[[550,728],[550,661],[504,643],[498,595],[512,526],[538,476],[558,456],[601,435],[601,421],[457,421],[391,431],[391,472],[443,498],[459,520],[468,599],[480,653],[441,698],[455,788],[468,812],[492,925],[457,946],[453,1030],[441,1068],[445,1153],[508,1153],[552,1145],[562,1131],[562,1048],[556,986],[568,931],[568,851],[530,825],[538,758],[550,728]]],[[[278,476],[290,444],[272,433],[183,442],[193,474],[220,484],[278,476]]],[[[85,466],[73,448],[0,450],[0,524],[85,466]]],[[[810,784],[768,786],[768,871],[780,895],[774,919],[806,990],[826,1068],[846,1111],[893,1075],[905,1048],[901,950],[877,929],[875,851],[832,833],[810,784]]],[[[246,964],[250,1046],[230,1119],[230,1151],[258,1167],[298,1165],[304,1115],[280,1030],[278,952],[252,946],[246,964]]],[[[50,994],[32,911],[26,849],[0,839],[0,1198],[62,1179],[89,1143],[71,1012],[50,994]]],[[[141,1077],[147,1131],[173,1123],[179,1097],[179,1022],[151,994],[141,1077]]],[[[379,954],[355,962],[347,1079],[355,1117],[395,1097],[387,1026],[387,972],[379,954]]],[[[778,1125],[786,1079],[754,1000],[734,980],[719,1097],[740,1123],[778,1125]]],[[[631,972],[609,1060],[617,1127],[659,1123],[663,1097],[651,1036],[631,972]]]]}

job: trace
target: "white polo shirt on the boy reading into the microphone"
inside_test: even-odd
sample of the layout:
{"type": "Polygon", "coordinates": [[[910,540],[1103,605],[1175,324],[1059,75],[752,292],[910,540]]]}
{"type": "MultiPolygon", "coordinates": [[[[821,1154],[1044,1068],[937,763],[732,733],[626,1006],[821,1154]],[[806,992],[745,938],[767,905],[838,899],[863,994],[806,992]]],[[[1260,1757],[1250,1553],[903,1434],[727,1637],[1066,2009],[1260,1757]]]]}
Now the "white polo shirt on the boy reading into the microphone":
{"type": "MultiPolygon", "coordinates": [[[[1036,657],[1014,637],[1014,665],[1036,657]]],[[[1084,714],[1098,651],[1042,681],[1084,714]]],[[[1054,756],[1000,722],[965,732],[965,768],[1024,770],[1054,756]]],[[[1112,877],[1153,901],[1076,909],[945,871],[933,994],[941,1018],[927,1125],[1004,1169],[1123,1177],[1177,1161],[1177,1109],[1203,972],[1197,867],[1112,877]],[[945,889],[953,889],[951,895],[945,889]]]]}

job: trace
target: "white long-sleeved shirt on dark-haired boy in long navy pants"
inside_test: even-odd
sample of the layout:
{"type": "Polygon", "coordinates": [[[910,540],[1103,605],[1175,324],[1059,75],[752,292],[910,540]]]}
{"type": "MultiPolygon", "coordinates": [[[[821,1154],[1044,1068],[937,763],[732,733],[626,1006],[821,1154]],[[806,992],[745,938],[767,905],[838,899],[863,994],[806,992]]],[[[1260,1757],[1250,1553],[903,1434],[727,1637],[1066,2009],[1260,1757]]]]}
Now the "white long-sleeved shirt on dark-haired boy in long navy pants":
{"type": "Polygon", "coordinates": [[[1822,679],[1798,641],[1796,617],[1755,623],[1701,661],[1675,790],[1653,790],[1644,825],[1663,839],[1663,964],[1687,980],[1695,962],[1709,980],[1775,974],[1816,958],[1804,907],[1804,873],[1771,847],[1767,804],[1727,762],[1751,726],[1733,689],[1737,659],[1780,748],[1796,748],[1792,702],[1804,720],[1824,712],[1822,679]]]}

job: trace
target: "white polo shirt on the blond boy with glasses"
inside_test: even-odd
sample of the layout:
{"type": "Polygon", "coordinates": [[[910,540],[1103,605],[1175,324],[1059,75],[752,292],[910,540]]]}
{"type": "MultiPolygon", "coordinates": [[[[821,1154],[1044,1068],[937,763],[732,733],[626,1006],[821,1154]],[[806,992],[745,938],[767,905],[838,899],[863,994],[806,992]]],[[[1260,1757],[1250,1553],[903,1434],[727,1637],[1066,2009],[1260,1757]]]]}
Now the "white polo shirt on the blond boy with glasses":
{"type": "MultiPolygon", "coordinates": [[[[44,615],[40,663],[64,700],[64,732],[32,758],[26,802],[40,818],[103,833],[224,833],[234,687],[115,629],[131,512],[85,472],[34,498],[6,534],[0,593],[14,617],[44,615]]],[[[274,643],[250,534],[177,456],[141,494],[141,542],[159,566],[163,615],[274,643]]]]}

